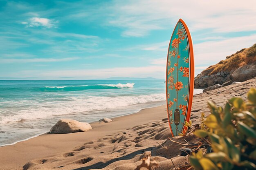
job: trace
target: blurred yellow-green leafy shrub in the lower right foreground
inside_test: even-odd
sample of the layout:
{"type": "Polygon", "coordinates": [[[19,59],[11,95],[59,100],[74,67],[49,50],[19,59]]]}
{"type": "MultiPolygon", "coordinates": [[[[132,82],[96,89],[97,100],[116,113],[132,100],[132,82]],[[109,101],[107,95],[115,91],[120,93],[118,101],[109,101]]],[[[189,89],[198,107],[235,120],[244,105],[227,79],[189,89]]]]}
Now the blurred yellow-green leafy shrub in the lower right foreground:
{"type": "Polygon", "coordinates": [[[233,97],[224,108],[208,102],[211,114],[202,118],[194,135],[207,138],[213,152],[193,153],[189,160],[195,170],[256,169],[256,88],[247,98],[249,102],[233,97]]]}

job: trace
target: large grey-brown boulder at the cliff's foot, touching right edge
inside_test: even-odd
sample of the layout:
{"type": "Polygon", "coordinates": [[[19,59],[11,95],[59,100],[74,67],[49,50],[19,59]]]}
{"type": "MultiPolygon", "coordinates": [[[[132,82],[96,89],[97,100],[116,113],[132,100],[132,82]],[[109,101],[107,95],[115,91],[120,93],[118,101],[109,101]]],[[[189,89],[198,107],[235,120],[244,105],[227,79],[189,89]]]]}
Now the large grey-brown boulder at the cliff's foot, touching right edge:
{"type": "Polygon", "coordinates": [[[248,79],[252,79],[256,76],[256,62],[242,66],[233,73],[231,73],[231,79],[234,82],[244,82],[248,79]]]}

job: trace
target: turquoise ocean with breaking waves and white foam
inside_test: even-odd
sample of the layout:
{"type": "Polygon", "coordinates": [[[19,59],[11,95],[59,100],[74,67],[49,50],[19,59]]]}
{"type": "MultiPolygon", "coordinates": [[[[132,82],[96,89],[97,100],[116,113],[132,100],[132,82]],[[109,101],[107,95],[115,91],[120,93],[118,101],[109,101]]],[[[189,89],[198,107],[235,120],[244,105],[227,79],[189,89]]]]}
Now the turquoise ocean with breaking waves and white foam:
{"type": "Polygon", "coordinates": [[[58,119],[90,123],[165,103],[165,83],[158,79],[1,80],[0,146],[49,132],[58,119]]]}

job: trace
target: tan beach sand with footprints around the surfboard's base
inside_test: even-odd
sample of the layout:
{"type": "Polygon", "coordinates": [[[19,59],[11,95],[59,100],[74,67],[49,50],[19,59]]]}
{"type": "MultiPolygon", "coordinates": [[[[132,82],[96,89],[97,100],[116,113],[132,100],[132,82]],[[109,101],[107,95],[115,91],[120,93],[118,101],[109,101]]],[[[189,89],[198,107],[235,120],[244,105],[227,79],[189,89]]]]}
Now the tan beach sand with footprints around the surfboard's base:
{"type": "MultiPolygon", "coordinates": [[[[256,87],[256,78],[194,95],[192,125],[200,123],[202,112],[209,115],[207,100],[224,106],[231,97],[246,99],[251,87],[256,87]]],[[[171,132],[165,105],[116,117],[110,123],[94,122],[91,126],[92,130],[87,132],[44,134],[0,147],[0,170],[134,170],[146,151],[158,161],[156,170],[172,169],[173,163],[175,166],[188,163],[188,157],[178,156],[181,146],[168,139],[171,132]]],[[[193,135],[185,139],[198,141],[193,135]]]]}

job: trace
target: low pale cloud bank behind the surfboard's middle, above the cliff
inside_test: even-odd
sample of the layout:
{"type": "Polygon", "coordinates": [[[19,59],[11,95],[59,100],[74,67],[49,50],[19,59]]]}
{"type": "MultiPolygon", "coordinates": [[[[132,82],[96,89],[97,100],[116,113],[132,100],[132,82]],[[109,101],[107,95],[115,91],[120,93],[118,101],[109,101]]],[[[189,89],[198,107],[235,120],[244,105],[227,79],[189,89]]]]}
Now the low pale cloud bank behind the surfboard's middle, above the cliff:
{"type": "MultiPolygon", "coordinates": [[[[235,38],[216,38],[216,40],[209,39],[198,44],[194,44],[194,60],[195,66],[209,66],[211,64],[216,64],[220,60],[225,60],[226,56],[229,56],[236,51],[239,51],[243,48],[248,48],[256,43],[256,34],[241,36],[235,38]]],[[[143,50],[153,50],[153,51],[166,51],[161,53],[162,56],[167,57],[168,51],[168,42],[160,42],[156,44],[148,44],[148,49],[140,47],[134,47],[133,49],[143,49],[143,50]],[[158,44],[163,44],[163,46],[158,46],[158,44]],[[165,44],[165,46],[164,46],[165,44]],[[154,48],[155,46],[155,48],[154,48]]],[[[131,48],[132,49],[132,48],[131,48]]],[[[150,64],[162,65],[166,64],[166,57],[154,59],[150,61],[150,64]]],[[[202,67],[201,67],[202,68],[202,67]]],[[[207,67],[206,67],[207,68],[207,67]]]]}

